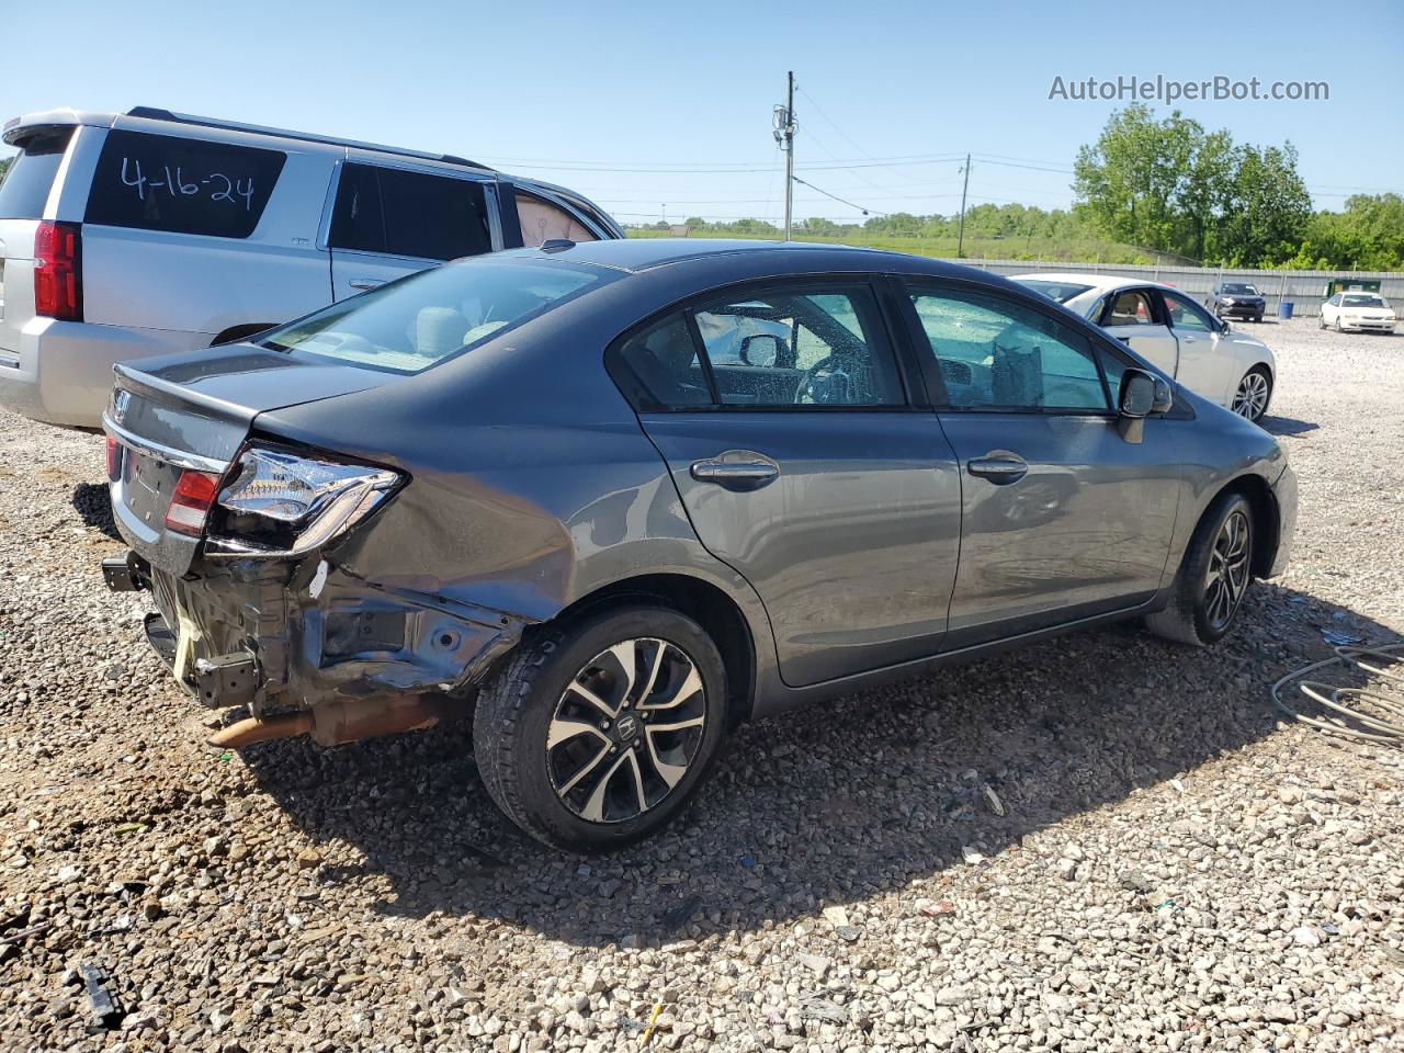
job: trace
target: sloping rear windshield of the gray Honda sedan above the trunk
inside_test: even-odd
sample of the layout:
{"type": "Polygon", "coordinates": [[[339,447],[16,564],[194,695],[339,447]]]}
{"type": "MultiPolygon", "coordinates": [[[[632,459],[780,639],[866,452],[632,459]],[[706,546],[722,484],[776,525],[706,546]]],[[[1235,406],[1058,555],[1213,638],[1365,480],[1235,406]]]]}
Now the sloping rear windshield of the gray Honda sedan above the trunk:
{"type": "Polygon", "coordinates": [[[275,351],[417,373],[614,281],[564,261],[483,256],[420,271],[264,334],[275,351]]]}

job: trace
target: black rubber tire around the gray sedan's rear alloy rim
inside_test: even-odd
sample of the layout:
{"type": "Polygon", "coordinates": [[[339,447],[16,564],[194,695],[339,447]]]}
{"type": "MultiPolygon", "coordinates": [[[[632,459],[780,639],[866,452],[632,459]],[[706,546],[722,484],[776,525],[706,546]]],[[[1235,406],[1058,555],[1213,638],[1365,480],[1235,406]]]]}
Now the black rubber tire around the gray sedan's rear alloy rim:
{"type": "MultiPolygon", "coordinates": [[[[644,654],[637,661],[640,663],[637,668],[643,670],[644,664],[651,661],[651,654],[644,654]]],[[[660,660],[658,668],[663,664],[660,660]]],[[[614,673],[618,674],[619,668],[621,665],[615,661],[614,673]]],[[[670,675],[680,675],[685,680],[681,673],[670,675]]],[[[653,681],[647,681],[646,687],[651,685],[653,681]]],[[[665,684],[661,689],[656,688],[657,694],[650,695],[650,698],[661,696],[670,687],[680,685],[665,684]]],[[[695,694],[688,695],[688,698],[695,699],[695,694]]],[[[497,806],[538,841],[573,852],[604,852],[621,848],[663,827],[678,813],[701,783],[726,737],[726,699],[727,680],[722,654],[712,637],[695,621],[661,602],[639,600],[591,608],[562,625],[546,626],[532,633],[483,688],[473,722],[473,751],[477,769],[497,806]],[[650,734],[644,722],[651,716],[658,716],[660,712],[646,705],[640,706],[646,702],[643,698],[630,702],[633,694],[646,689],[639,687],[644,682],[643,678],[635,675],[628,681],[628,689],[619,695],[623,702],[629,703],[626,709],[637,716],[635,724],[637,730],[628,740],[619,739],[621,730],[625,727],[625,710],[621,709],[614,723],[608,719],[598,722],[604,729],[600,734],[594,730],[588,734],[577,733],[557,740],[555,747],[548,746],[549,729],[557,716],[567,720],[566,716],[562,716],[566,706],[574,708],[569,723],[580,723],[585,719],[597,723],[594,717],[604,716],[577,696],[571,688],[573,684],[587,675],[600,677],[602,680],[591,682],[607,684],[614,689],[621,677],[614,675],[611,682],[611,670],[607,668],[609,665],[607,656],[612,653],[611,649],[629,646],[630,653],[635,649],[642,653],[657,642],[665,642],[675,649],[668,651],[671,657],[667,661],[680,670],[684,665],[694,668],[702,684],[702,698],[696,702],[696,709],[689,710],[701,712],[703,717],[699,733],[691,737],[687,744],[667,747],[677,754],[677,757],[670,755],[670,760],[681,760],[682,753],[678,753],[681,750],[687,753],[687,762],[684,765],[654,764],[651,767],[654,776],[660,776],[664,768],[671,772],[677,767],[682,767],[685,774],[671,785],[664,778],[657,778],[656,782],[650,783],[647,792],[640,792],[635,797],[642,807],[632,817],[626,814],[625,817],[604,816],[601,809],[605,804],[591,809],[591,802],[595,802],[594,793],[577,812],[578,795],[591,788],[598,789],[601,782],[607,785],[598,790],[600,802],[607,802],[609,806],[622,796],[630,796],[635,786],[643,786],[647,775],[644,769],[650,768],[650,755],[654,761],[660,755],[656,743],[668,741],[667,739],[660,740],[657,736],[675,734],[680,736],[681,743],[684,736],[691,734],[691,731],[668,730],[650,734]],[[644,647],[637,647],[639,643],[643,643],[644,647]],[[678,654],[681,658],[677,657],[678,654]],[[607,658],[607,661],[598,663],[601,658],[607,658]],[[577,709],[583,709],[584,715],[580,715],[577,709]],[[644,712],[646,709],[650,712],[644,712]],[[595,739],[601,740],[600,746],[595,744],[595,739]],[[614,741],[614,746],[611,747],[607,740],[614,741]],[[592,762],[581,761],[571,779],[580,778],[587,768],[590,778],[581,779],[581,785],[576,790],[570,789],[571,779],[564,779],[566,788],[557,793],[560,772],[556,767],[562,762],[559,751],[576,750],[577,746],[591,753],[595,750],[608,750],[608,753],[601,753],[592,762]],[[629,754],[630,747],[636,754],[635,758],[621,755],[621,751],[629,754]],[[605,769],[609,769],[611,774],[594,782],[595,771],[605,769]],[[635,776],[635,772],[640,771],[644,774],[635,776]],[[590,785],[585,785],[587,782],[590,785]],[[654,790],[661,790],[661,796],[646,803],[649,793],[654,790]],[[576,796],[571,797],[571,793],[576,796]],[[601,810],[601,819],[583,817],[583,813],[590,810],[601,810]]],[[[622,810],[626,813],[626,809],[622,810]]]]}

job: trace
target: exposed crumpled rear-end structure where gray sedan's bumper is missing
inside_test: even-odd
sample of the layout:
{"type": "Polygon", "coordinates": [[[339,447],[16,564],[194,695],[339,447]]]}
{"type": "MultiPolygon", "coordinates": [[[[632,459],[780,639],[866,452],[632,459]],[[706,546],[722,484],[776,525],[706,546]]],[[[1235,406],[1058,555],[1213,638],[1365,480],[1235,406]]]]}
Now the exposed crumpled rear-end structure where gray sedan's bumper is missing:
{"type": "Polygon", "coordinates": [[[373,698],[469,694],[525,621],[369,583],[326,560],[233,560],[176,577],[104,560],[115,591],[149,587],[147,640],[204,705],[254,716],[373,698]]]}

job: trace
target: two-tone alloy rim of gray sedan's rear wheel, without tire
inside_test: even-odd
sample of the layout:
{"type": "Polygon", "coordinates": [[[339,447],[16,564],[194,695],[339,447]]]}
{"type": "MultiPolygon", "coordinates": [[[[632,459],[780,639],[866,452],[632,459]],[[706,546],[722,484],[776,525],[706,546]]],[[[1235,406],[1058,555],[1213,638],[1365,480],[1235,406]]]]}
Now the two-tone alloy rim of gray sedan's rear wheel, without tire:
{"type": "Polygon", "coordinates": [[[590,823],[657,807],[687,775],[706,726],[692,657],[651,637],[623,640],[571,677],[546,727],[550,785],[590,823]]]}

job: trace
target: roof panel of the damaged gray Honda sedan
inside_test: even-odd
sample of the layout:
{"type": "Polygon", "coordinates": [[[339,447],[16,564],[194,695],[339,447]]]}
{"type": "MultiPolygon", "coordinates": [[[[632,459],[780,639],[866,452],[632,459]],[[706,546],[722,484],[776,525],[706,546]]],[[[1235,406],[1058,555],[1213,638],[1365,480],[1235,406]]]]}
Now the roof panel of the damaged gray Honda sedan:
{"type": "MultiPolygon", "coordinates": [[[[559,244],[559,243],[557,243],[559,244]]],[[[682,263],[719,261],[746,254],[747,257],[771,256],[776,272],[824,270],[837,267],[851,271],[899,271],[911,274],[932,274],[970,278],[972,270],[941,260],[928,260],[906,253],[889,253],[880,249],[858,249],[854,246],[824,244],[816,241],[753,241],[741,239],[701,237],[628,237],[618,241],[580,241],[570,246],[510,250],[519,254],[549,251],[550,256],[571,263],[597,264],[619,271],[650,271],[682,263]]],[[[994,278],[983,271],[974,271],[980,278],[994,278]]]]}

